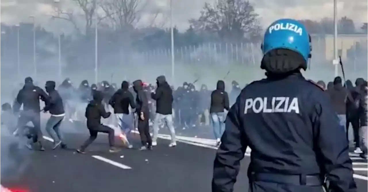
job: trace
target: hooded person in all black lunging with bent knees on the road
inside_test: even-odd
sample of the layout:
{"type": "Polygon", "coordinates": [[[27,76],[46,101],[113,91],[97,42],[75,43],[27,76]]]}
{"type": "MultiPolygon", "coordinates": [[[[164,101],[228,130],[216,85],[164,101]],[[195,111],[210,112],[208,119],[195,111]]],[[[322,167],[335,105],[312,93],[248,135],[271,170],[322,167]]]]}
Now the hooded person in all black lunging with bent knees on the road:
{"type": "Polygon", "coordinates": [[[114,130],[108,126],[101,124],[101,117],[106,119],[111,113],[106,112],[102,104],[103,93],[95,91],[93,100],[89,102],[86,108],[85,117],[87,118],[87,128],[89,130],[89,138],[84,144],[77,149],[78,153],[85,153],[85,149],[96,140],[98,132],[109,134],[110,153],[118,152],[119,150],[114,146],[114,130]]]}

